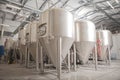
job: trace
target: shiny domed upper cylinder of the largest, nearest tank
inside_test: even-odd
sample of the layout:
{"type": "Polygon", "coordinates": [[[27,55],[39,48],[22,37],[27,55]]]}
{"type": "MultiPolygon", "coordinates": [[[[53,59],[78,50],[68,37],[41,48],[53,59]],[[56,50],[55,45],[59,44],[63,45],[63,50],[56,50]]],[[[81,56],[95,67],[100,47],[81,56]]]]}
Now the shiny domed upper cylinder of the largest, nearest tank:
{"type": "Polygon", "coordinates": [[[47,35],[73,37],[73,16],[70,12],[56,8],[41,14],[40,25],[47,23],[47,35]]]}

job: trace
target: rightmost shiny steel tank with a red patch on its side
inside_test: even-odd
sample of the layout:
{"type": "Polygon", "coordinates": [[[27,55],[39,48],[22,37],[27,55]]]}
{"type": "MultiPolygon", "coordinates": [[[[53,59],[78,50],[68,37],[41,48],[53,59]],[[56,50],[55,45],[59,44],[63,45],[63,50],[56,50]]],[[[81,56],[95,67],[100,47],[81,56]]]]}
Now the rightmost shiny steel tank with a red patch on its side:
{"type": "Polygon", "coordinates": [[[107,58],[107,50],[113,46],[112,34],[109,30],[98,30],[97,31],[97,51],[98,59],[105,60],[107,58]]]}

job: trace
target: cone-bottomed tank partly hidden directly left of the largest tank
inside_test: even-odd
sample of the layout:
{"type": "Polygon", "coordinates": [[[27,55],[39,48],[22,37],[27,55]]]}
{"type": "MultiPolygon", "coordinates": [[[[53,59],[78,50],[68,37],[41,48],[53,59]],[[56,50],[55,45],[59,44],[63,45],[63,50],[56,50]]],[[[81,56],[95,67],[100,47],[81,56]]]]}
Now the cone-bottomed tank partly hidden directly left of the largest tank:
{"type": "Polygon", "coordinates": [[[32,21],[26,26],[26,43],[33,59],[36,59],[37,21],[32,21]]]}

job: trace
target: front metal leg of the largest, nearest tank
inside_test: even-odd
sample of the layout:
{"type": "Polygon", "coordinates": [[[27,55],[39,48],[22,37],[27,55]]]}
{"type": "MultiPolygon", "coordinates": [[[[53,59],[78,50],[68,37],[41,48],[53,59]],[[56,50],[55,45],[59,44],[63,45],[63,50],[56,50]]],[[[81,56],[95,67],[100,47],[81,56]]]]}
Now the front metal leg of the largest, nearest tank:
{"type": "Polygon", "coordinates": [[[57,41],[57,74],[58,79],[61,80],[61,53],[62,53],[62,38],[59,37],[57,41]]]}

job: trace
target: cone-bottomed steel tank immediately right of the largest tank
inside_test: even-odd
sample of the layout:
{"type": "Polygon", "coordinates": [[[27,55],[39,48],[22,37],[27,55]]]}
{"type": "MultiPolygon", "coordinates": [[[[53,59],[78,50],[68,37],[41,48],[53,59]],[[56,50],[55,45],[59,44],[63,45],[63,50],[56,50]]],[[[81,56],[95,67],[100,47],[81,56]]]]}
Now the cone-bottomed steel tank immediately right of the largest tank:
{"type": "Polygon", "coordinates": [[[75,21],[75,45],[80,62],[85,64],[96,43],[95,25],[91,21],[75,21]]]}

